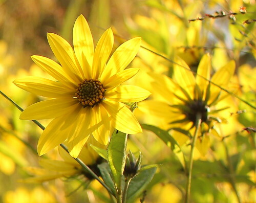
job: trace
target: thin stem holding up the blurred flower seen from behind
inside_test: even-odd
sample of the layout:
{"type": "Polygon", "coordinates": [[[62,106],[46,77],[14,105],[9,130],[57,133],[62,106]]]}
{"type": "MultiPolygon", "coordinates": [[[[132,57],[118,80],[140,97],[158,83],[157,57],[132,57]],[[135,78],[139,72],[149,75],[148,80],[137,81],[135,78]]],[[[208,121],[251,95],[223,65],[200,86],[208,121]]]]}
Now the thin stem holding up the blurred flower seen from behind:
{"type": "Polygon", "coordinates": [[[193,137],[193,142],[191,143],[191,150],[190,150],[190,157],[189,157],[189,163],[188,163],[188,177],[187,177],[187,186],[186,186],[186,195],[185,195],[185,203],[189,202],[190,197],[190,189],[191,189],[191,177],[192,177],[192,168],[193,168],[193,157],[194,157],[194,151],[196,146],[196,141],[198,137],[198,131],[201,125],[201,114],[197,114],[196,119],[196,130],[193,137]]]}

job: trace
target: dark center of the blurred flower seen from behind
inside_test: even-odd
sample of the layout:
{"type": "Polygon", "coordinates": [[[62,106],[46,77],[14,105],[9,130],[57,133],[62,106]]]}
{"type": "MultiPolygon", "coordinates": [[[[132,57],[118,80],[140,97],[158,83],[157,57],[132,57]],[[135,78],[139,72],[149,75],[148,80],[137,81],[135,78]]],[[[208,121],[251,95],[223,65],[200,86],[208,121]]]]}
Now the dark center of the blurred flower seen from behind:
{"type": "Polygon", "coordinates": [[[197,115],[201,115],[202,122],[206,122],[208,120],[208,112],[210,111],[209,106],[205,105],[202,100],[194,100],[187,104],[188,111],[184,112],[187,116],[187,119],[193,122],[196,125],[197,115]]]}

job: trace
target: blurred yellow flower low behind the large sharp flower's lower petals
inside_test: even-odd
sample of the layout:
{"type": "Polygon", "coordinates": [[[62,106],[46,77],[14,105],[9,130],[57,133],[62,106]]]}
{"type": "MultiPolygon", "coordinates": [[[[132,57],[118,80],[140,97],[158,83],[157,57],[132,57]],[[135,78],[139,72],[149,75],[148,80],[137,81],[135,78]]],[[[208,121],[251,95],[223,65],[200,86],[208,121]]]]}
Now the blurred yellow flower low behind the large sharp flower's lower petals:
{"type": "MultiPolygon", "coordinates": [[[[100,175],[98,164],[102,162],[102,158],[92,149],[89,142],[96,147],[105,148],[104,145],[98,143],[93,137],[82,147],[79,159],[83,161],[94,173],[100,175]]],[[[72,177],[75,175],[84,175],[88,179],[93,179],[91,174],[84,171],[80,164],[74,160],[67,151],[58,146],[60,160],[41,159],[39,164],[42,168],[27,167],[26,170],[33,175],[23,180],[26,183],[41,183],[51,181],[60,177],[72,177]]]]}

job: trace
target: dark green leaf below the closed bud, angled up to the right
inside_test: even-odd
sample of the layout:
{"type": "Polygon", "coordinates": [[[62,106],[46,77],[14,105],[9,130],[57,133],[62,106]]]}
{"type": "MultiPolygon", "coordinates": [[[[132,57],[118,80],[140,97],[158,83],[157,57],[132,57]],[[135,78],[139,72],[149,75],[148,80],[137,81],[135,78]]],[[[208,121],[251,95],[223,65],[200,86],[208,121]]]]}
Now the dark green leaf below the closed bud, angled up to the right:
{"type": "Polygon", "coordinates": [[[156,170],[156,167],[142,170],[132,179],[127,189],[128,202],[133,202],[145,190],[145,187],[151,182],[156,170]]]}

